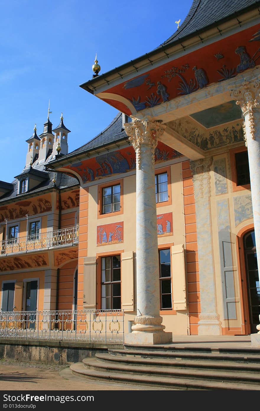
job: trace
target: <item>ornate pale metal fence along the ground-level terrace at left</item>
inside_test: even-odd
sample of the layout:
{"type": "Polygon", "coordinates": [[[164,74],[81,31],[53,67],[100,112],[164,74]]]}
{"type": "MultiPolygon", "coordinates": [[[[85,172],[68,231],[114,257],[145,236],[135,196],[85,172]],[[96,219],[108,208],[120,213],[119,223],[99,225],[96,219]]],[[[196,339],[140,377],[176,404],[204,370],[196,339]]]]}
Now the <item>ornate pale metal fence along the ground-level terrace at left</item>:
{"type": "Polygon", "coordinates": [[[0,338],[122,344],[121,310],[0,312],[0,338]]]}

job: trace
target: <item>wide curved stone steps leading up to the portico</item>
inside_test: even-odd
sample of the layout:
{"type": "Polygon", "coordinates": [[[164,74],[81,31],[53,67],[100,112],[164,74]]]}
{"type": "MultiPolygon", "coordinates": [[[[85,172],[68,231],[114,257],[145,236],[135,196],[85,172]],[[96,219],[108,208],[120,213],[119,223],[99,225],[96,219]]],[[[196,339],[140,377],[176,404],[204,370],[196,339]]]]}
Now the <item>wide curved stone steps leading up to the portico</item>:
{"type": "Polygon", "coordinates": [[[260,350],[125,345],[74,363],[71,372],[171,390],[260,390],[260,350]]]}

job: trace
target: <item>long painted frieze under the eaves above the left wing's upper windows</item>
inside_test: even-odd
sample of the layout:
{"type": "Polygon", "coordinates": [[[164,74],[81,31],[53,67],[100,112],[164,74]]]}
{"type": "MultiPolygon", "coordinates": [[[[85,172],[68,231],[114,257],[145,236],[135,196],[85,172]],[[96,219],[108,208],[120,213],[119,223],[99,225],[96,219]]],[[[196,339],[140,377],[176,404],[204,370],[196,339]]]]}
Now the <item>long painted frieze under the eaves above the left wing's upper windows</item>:
{"type": "Polygon", "coordinates": [[[14,220],[26,217],[26,214],[37,215],[51,211],[51,209],[51,194],[45,194],[30,200],[17,201],[16,203],[0,206],[0,222],[5,221],[6,218],[14,220]]]}

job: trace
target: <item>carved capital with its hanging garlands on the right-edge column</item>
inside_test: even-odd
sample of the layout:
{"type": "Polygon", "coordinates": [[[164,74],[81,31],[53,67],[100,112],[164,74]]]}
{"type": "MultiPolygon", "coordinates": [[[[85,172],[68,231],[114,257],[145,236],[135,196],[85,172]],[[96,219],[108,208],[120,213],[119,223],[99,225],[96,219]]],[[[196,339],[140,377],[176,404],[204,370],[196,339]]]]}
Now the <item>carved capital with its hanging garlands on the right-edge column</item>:
{"type": "MultiPolygon", "coordinates": [[[[249,129],[252,139],[255,139],[255,118],[253,110],[260,107],[260,82],[254,81],[249,83],[245,81],[241,87],[231,91],[230,96],[236,100],[236,104],[240,106],[243,116],[248,114],[249,129]]],[[[245,131],[245,128],[244,128],[245,131]]],[[[244,132],[245,141],[246,134],[244,132]]]]}

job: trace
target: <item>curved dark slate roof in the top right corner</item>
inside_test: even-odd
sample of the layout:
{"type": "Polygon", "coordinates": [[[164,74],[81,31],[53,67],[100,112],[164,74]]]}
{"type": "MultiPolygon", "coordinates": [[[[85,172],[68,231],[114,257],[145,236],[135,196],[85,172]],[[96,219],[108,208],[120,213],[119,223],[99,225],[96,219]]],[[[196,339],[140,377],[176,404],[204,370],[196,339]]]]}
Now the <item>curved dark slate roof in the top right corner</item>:
{"type": "MultiPolygon", "coordinates": [[[[194,34],[224,18],[230,18],[232,14],[237,14],[250,6],[256,7],[260,1],[256,0],[193,0],[189,13],[173,33],[160,46],[164,46],[174,40],[194,34]]],[[[160,47],[159,46],[159,47],[160,47]]]]}

